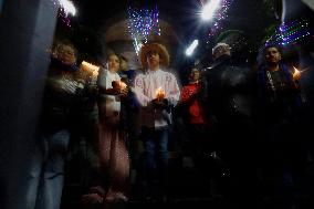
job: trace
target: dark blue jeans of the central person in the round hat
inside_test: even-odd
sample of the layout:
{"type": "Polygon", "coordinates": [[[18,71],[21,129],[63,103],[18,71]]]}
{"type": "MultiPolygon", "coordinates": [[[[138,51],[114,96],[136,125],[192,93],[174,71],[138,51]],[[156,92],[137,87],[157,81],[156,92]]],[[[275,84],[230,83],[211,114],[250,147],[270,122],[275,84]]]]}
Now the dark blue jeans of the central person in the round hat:
{"type": "Polygon", "coordinates": [[[154,188],[157,181],[156,191],[166,191],[167,168],[168,168],[168,128],[143,128],[145,147],[145,170],[148,188],[154,188]]]}

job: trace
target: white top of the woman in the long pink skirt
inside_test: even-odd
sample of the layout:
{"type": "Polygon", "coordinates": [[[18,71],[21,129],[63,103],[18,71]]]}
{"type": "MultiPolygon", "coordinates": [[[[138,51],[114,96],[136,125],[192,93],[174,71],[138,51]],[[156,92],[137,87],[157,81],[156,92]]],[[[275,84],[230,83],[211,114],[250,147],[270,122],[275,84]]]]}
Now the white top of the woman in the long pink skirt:
{"type": "MultiPolygon", "coordinates": [[[[113,88],[113,81],[121,81],[121,76],[117,73],[112,73],[108,70],[104,70],[98,75],[98,85],[103,88],[113,88]]],[[[118,95],[102,94],[105,98],[105,116],[115,116],[121,111],[121,98],[118,95]]]]}

